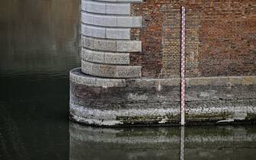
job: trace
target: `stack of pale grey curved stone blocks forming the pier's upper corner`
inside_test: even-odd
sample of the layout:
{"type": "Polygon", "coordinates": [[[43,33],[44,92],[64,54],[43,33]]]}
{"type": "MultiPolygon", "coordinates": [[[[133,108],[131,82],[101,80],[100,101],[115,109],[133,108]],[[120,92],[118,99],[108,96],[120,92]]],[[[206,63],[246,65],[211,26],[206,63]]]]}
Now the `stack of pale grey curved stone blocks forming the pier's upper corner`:
{"type": "Polygon", "coordinates": [[[141,52],[141,41],[131,40],[131,28],[141,27],[142,18],[131,16],[130,10],[131,2],[141,0],[81,2],[82,72],[97,77],[140,78],[141,66],[130,65],[130,53],[141,52]]]}

